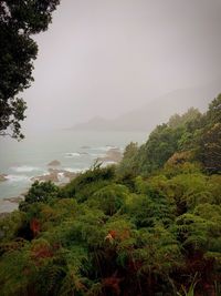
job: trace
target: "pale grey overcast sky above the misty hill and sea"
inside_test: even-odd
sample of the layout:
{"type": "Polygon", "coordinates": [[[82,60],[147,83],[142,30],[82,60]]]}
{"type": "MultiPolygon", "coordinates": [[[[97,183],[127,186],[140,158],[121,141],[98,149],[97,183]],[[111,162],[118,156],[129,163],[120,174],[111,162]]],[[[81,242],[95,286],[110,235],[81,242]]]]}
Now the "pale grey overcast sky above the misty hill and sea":
{"type": "Polygon", "coordinates": [[[39,44],[24,129],[114,119],[221,78],[221,0],[61,0],[39,44]]]}

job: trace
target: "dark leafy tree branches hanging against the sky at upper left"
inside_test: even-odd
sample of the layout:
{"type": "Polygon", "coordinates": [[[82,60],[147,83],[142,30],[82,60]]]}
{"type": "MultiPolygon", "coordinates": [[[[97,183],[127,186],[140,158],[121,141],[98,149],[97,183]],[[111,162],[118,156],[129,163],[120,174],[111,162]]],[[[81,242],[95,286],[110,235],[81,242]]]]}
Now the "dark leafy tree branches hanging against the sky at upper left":
{"type": "Polygon", "coordinates": [[[33,34],[48,29],[60,0],[0,1],[0,135],[23,139],[20,122],[27,103],[18,94],[33,81],[38,44],[33,34]]]}

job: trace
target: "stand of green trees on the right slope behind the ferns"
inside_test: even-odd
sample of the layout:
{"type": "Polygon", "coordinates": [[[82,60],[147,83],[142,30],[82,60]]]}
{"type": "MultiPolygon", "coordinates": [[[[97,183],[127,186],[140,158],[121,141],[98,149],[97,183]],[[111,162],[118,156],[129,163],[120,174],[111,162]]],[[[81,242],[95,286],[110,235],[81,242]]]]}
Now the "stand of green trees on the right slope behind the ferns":
{"type": "MultiPolygon", "coordinates": [[[[204,114],[193,108],[182,115],[175,114],[168,123],[158,125],[140,147],[130,143],[125,150],[118,172],[122,175],[133,175],[134,177],[136,174],[148,176],[157,173],[167,161],[171,162],[172,157],[175,161],[175,155],[185,153],[191,155],[190,163],[194,161],[209,173],[220,173],[220,102],[221,95],[211,102],[204,114]]],[[[187,160],[182,157],[182,162],[186,164],[187,160]]],[[[177,169],[179,167],[177,166],[177,169]]]]}

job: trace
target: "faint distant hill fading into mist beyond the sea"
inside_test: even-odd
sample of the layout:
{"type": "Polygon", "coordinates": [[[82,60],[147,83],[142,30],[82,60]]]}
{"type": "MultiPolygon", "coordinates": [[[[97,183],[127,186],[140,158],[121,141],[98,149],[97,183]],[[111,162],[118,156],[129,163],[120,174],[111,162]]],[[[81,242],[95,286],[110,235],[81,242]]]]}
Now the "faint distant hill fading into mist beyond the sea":
{"type": "Polygon", "coordinates": [[[176,90],[114,120],[96,116],[74,125],[71,130],[150,132],[157,124],[167,122],[171,114],[183,113],[191,106],[203,112],[220,92],[219,82],[198,89],[176,90]]]}

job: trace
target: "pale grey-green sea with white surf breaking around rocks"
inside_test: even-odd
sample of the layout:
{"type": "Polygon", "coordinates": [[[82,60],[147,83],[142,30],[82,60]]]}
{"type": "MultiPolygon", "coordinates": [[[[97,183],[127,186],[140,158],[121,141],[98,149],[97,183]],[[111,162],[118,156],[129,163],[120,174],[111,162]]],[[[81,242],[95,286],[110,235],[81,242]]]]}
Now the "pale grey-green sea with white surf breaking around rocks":
{"type": "Polygon", "coordinates": [[[0,137],[0,174],[7,181],[0,182],[0,213],[18,205],[3,198],[15,197],[31,185],[31,177],[48,173],[48,164],[57,160],[59,169],[81,172],[104,156],[110,147],[124,151],[129,142],[141,144],[147,134],[139,132],[76,132],[56,131],[27,134],[25,140],[17,142],[0,137]]]}

